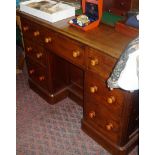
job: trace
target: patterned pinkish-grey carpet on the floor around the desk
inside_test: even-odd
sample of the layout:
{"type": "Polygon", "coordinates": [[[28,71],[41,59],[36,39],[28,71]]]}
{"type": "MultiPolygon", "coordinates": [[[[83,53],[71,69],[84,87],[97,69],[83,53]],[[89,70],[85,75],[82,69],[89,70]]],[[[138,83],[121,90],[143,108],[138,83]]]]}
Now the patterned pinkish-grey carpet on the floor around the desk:
{"type": "Polygon", "coordinates": [[[17,155],[110,155],[81,130],[80,106],[69,98],[50,105],[26,79],[17,74],[17,155]]]}

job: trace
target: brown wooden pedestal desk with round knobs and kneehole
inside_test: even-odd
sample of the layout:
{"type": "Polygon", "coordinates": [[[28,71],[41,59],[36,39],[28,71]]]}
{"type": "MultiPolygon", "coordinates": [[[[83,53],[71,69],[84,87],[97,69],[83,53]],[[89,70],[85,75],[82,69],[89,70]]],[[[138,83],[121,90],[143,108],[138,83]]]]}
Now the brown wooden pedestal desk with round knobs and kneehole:
{"type": "Polygon", "coordinates": [[[17,11],[29,86],[48,103],[69,96],[83,107],[81,128],[113,155],[138,143],[138,92],[110,91],[106,80],[133,38],[100,24],[89,32],[17,11]]]}

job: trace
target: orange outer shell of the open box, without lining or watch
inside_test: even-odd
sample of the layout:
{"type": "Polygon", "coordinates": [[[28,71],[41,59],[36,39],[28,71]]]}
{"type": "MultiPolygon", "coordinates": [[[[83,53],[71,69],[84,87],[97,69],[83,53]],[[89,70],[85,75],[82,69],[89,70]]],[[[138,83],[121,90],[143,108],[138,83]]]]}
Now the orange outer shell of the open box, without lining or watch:
{"type": "Polygon", "coordinates": [[[103,10],[102,10],[102,8],[103,8],[103,0],[82,0],[82,12],[83,12],[83,14],[86,13],[87,2],[97,5],[97,7],[98,7],[98,19],[93,21],[93,22],[90,22],[88,25],[85,25],[83,27],[79,26],[79,25],[77,25],[75,23],[70,23],[69,22],[70,25],[75,26],[75,27],[77,27],[77,28],[79,28],[81,30],[84,30],[84,31],[88,31],[88,30],[91,30],[91,29],[97,27],[99,25],[99,23],[100,23],[100,20],[102,18],[102,13],[103,13],[103,10]]]}

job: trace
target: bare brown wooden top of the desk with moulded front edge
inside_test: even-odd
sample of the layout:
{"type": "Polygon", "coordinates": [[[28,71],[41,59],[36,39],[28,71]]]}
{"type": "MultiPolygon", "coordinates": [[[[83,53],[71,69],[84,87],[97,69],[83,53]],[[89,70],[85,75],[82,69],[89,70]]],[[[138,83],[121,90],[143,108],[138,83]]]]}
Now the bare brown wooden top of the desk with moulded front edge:
{"type": "Polygon", "coordinates": [[[43,26],[45,29],[53,30],[60,36],[74,39],[83,45],[100,50],[100,52],[106,53],[116,59],[120,57],[123,49],[133,39],[133,37],[122,35],[116,32],[113,27],[102,23],[98,28],[84,33],[83,31],[70,26],[68,24],[68,19],[51,23],[24,12],[17,11],[17,13],[20,14],[22,18],[27,19],[29,23],[35,22],[38,25],[43,26]]]}

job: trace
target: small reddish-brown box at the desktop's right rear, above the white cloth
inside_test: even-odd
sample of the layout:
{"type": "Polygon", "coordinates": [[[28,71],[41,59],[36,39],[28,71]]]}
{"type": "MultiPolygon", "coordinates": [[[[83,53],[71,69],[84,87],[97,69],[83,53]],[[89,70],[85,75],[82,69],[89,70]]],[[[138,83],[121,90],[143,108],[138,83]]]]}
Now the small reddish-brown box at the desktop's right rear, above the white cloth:
{"type": "Polygon", "coordinates": [[[117,22],[115,25],[115,30],[130,37],[136,37],[139,34],[139,29],[128,26],[123,22],[117,22]]]}

